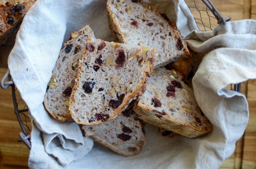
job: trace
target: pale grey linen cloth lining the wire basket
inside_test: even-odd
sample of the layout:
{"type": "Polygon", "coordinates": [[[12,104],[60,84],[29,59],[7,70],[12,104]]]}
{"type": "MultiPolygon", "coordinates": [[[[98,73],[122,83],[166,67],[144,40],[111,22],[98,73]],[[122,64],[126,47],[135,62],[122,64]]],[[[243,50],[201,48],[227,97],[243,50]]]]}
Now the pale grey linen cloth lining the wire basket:
{"type": "Polygon", "coordinates": [[[176,21],[192,50],[205,54],[192,82],[212,130],[197,138],[169,139],[147,124],[147,143],[141,153],[123,157],[97,142],[93,146],[73,120],[54,120],[42,102],[69,33],[89,24],[96,38],[113,38],[105,0],[37,0],[25,16],[8,58],[13,81],[30,110],[30,168],[218,168],[233,153],[249,111],[245,96],[225,87],[256,78],[256,21],[228,22],[200,32],[184,0],[148,2],[176,21]]]}

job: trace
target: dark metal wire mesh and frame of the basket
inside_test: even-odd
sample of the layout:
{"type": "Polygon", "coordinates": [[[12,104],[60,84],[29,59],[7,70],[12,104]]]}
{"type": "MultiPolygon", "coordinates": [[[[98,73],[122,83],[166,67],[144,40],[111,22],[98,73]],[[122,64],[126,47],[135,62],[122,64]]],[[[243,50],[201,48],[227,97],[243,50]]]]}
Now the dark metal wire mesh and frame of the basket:
{"type": "MultiPolygon", "coordinates": [[[[192,1],[192,0],[186,0],[186,1],[192,1]]],[[[204,26],[205,31],[206,31],[206,28],[209,28],[210,30],[212,30],[210,18],[215,18],[215,19],[217,19],[217,21],[218,21],[217,23],[218,24],[222,23],[224,25],[225,25],[226,21],[231,19],[230,17],[224,18],[220,14],[218,9],[214,6],[214,4],[210,0],[201,0],[206,5],[206,10],[199,9],[197,7],[197,5],[196,5],[195,0],[193,0],[193,1],[194,1],[194,6],[188,6],[188,7],[189,7],[190,11],[191,11],[191,8],[197,9],[197,11],[200,14],[200,19],[198,19],[198,18],[194,18],[194,19],[196,21],[197,20],[201,21],[201,24],[204,26]],[[209,15],[209,13],[208,13],[209,10],[208,9],[210,9],[210,11],[212,12],[212,14],[214,16],[209,15]],[[208,26],[202,20],[201,12],[205,12],[208,15],[208,18],[209,18],[209,25],[208,26]]],[[[200,0],[198,0],[198,1],[200,1],[200,0]]],[[[17,89],[15,88],[15,84],[12,81],[11,76],[9,74],[9,70],[8,70],[6,72],[6,74],[5,74],[5,76],[3,77],[3,79],[1,80],[1,87],[3,89],[7,89],[9,86],[12,87],[12,97],[13,97],[13,104],[14,104],[14,113],[16,114],[18,122],[19,122],[19,125],[20,125],[20,127],[22,129],[22,132],[19,133],[20,139],[18,139],[18,142],[22,142],[23,141],[26,144],[26,146],[29,149],[31,149],[31,142],[30,142],[30,132],[31,132],[31,130],[30,130],[28,124],[27,124],[27,122],[29,121],[29,117],[27,115],[28,114],[28,107],[27,107],[27,105],[25,107],[23,107],[23,108],[19,107],[19,102],[22,99],[20,99],[17,102],[16,93],[15,93],[17,89]],[[6,81],[6,82],[4,82],[4,81],[6,81]],[[21,119],[21,117],[25,118],[25,122],[21,119]]],[[[234,91],[240,92],[240,88],[241,88],[241,83],[234,84],[234,91]]],[[[232,90],[232,85],[231,85],[231,90],[232,90]]]]}

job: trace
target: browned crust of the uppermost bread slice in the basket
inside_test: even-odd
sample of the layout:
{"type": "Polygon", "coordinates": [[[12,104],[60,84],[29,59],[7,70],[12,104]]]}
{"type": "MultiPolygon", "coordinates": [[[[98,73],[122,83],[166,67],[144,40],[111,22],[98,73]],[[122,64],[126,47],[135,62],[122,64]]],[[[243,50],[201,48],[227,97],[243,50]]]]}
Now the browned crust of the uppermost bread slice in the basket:
{"type": "MultiPolygon", "coordinates": [[[[120,43],[128,43],[125,39],[125,36],[124,34],[122,33],[120,27],[118,26],[118,23],[116,21],[116,19],[113,17],[113,12],[112,10],[110,9],[110,6],[109,6],[109,3],[110,3],[111,0],[108,0],[107,1],[107,17],[108,17],[108,24],[109,24],[109,28],[112,32],[112,35],[114,37],[114,39],[116,41],[119,41],[120,43]]],[[[147,2],[144,2],[144,1],[140,1],[138,3],[141,3],[141,4],[145,4],[145,5],[149,5],[151,6],[151,10],[154,10],[155,12],[157,12],[158,14],[162,15],[162,13],[157,10],[154,6],[152,6],[151,4],[147,3],[147,2]]],[[[177,29],[176,27],[176,23],[174,21],[168,21],[169,25],[173,27],[173,29],[175,30],[175,33],[176,33],[176,37],[175,39],[178,39],[178,37],[181,37],[181,41],[183,43],[183,52],[184,52],[184,57],[180,57],[180,58],[189,58],[191,57],[191,55],[189,54],[189,50],[188,50],[188,47],[187,47],[187,44],[186,42],[182,39],[183,36],[180,34],[180,31],[177,29]]]]}

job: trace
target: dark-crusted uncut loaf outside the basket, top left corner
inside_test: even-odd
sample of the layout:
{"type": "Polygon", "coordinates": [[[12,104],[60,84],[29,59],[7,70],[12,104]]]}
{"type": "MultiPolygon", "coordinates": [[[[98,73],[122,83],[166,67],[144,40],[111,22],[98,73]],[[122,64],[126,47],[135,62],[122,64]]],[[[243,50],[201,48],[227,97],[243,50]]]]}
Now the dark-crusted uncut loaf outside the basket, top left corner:
{"type": "Polygon", "coordinates": [[[18,30],[22,17],[35,0],[0,1],[0,46],[18,30]]]}

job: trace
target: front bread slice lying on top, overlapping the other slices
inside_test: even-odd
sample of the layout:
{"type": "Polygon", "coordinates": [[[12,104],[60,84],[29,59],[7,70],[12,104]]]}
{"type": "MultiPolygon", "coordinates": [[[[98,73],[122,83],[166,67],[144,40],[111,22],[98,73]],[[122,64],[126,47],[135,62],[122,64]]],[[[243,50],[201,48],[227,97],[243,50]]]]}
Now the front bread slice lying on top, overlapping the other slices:
{"type": "Polygon", "coordinates": [[[79,124],[111,120],[142,95],[156,49],[88,37],[69,110],[79,124]]]}

